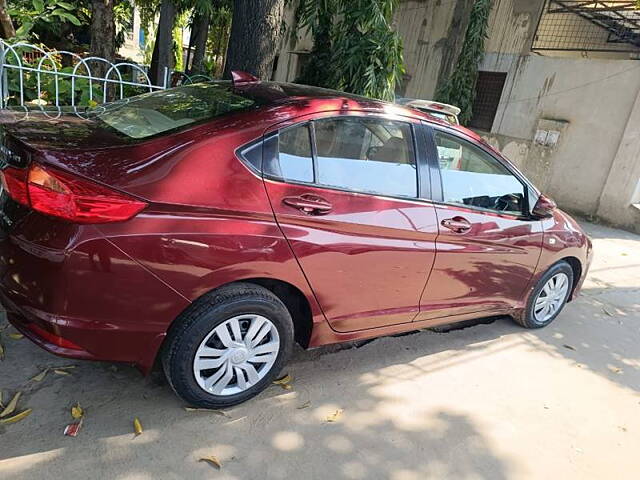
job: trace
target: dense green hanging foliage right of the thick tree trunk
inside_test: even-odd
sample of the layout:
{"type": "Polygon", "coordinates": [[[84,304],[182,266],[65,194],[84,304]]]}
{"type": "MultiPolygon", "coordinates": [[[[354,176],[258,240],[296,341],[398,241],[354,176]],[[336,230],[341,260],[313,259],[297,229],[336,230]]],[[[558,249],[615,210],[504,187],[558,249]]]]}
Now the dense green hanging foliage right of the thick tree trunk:
{"type": "Polygon", "coordinates": [[[391,100],[404,73],[391,20],[397,0],[300,0],[298,28],[314,46],[297,81],[391,100]]]}

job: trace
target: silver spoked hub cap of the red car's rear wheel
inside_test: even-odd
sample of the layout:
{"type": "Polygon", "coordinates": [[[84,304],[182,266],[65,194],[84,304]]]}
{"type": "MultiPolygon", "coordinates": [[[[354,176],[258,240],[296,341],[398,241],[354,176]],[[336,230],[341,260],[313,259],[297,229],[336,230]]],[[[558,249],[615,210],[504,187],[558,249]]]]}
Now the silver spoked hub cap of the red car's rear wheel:
{"type": "Polygon", "coordinates": [[[275,325],[261,315],[238,315],[202,340],[193,359],[198,385],[214,395],[234,395],[258,383],[280,351],[275,325]]]}

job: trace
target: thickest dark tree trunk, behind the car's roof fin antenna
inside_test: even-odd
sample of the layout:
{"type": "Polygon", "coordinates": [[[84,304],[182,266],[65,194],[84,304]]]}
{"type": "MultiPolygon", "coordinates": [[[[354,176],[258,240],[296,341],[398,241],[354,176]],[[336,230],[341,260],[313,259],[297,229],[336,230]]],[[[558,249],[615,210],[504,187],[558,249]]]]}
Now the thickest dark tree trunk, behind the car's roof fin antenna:
{"type": "Polygon", "coordinates": [[[225,78],[232,70],[271,78],[283,10],[284,0],[234,0],[225,78]]]}

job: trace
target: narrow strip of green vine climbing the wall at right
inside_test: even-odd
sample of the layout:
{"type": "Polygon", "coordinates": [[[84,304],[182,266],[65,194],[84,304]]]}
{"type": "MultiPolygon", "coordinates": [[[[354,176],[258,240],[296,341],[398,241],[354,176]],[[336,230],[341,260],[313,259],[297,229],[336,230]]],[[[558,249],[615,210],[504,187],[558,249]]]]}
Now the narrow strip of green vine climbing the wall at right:
{"type": "Polygon", "coordinates": [[[490,13],[491,0],[475,0],[456,67],[451,77],[440,85],[436,92],[436,100],[439,102],[460,107],[462,112],[459,119],[463,125],[466,125],[473,115],[478,65],[484,56],[490,13]]]}

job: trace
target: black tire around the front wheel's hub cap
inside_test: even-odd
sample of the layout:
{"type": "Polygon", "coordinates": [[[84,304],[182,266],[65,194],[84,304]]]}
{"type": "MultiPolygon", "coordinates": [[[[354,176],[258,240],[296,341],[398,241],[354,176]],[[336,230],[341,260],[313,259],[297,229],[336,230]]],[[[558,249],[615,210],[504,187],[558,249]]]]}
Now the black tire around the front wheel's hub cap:
{"type": "MultiPolygon", "coordinates": [[[[557,282],[557,281],[560,281],[560,280],[554,280],[554,282],[557,282]]],[[[527,299],[527,304],[525,306],[525,309],[520,313],[520,315],[517,315],[514,317],[514,321],[525,328],[546,327],[551,322],[553,322],[556,319],[556,317],[560,314],[560,312],[566,305],[572,290],[573,290],[573,269],[571,268],[571,266],[565,261],[560,261],[552,265],[551,268],[549,268],[549,270],[547,270],[546,273],[542,276],[542,278],[538,280],[538,283],[536,284],[535,288],[533,289],[533,291],[529,295],[529,298],[527,299]],[[554,278],[562,279],[563,275],[566,278],[566,282],[567,282],[566,292],[562,295],[561,289],[557,290],[558,294],[555,295],[555,298],[557,300],[555,300],[554,302],[547,302],[547,303],[552,303],[554,305],[553,307],[554,310],[549,311],[547,315],[542,315],[542,311],[539,309],[540,308],[543,309],[544,307],[540,307],[539,305],[537,306],[536,302],[540,298],[541,304],[544,304],[545,303],[544,298],[547,297],[546,292],[543,292],[545,286],[554,278]]]]}

